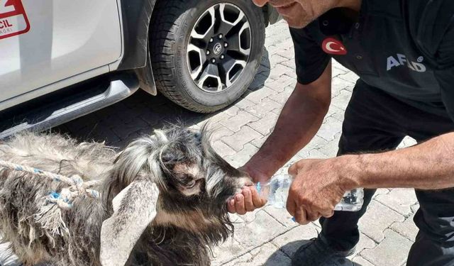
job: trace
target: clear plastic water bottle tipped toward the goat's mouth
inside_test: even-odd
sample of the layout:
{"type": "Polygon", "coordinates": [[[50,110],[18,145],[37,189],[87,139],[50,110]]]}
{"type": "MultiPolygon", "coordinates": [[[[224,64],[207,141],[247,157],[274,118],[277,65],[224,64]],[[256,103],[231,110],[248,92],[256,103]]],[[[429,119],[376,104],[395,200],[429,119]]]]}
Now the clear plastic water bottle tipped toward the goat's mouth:
{"type": "MultiPolygon", "coordinates": [[[[284,209],[287,205],[292,177],[289,174],[277,174],[268,182],[258,182],[255,188],[263,199],[267,199],[267,205],[278,209],[284,209]]],[[[364,203],[364,190],[353,189],[346,192],[342,201],[336,205],[335,211],[360,211],[364,203]]]]}

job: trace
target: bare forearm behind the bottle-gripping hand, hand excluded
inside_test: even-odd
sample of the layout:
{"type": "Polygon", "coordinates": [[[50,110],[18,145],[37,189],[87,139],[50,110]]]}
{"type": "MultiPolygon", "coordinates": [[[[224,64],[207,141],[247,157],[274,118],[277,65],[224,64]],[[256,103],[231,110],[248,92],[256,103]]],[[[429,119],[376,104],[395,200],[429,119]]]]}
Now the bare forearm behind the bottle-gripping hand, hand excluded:
{"type": "Polygon", "coordinates": [[[355,186],[415,189],[454,187],[454,133],[402,150],[346,156],[343,160],[347,164],[352,162],[354,170],[350,170],[350,179],[352,184],[357,184],[355,186]]]}

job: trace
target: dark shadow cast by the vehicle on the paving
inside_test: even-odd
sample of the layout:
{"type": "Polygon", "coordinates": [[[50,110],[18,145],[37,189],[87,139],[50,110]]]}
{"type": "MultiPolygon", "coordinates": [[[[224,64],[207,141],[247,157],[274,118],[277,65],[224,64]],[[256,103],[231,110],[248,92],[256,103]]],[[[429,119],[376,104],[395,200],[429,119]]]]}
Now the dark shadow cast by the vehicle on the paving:
{"type": "MultiPolygon", "coordinates": [[[[264,50],[258,75],[245,95],[261,89],[269,75],[269,54],[264,50]]],[[[52,131],[69,134],[80,141],[105,141],[106,145],[123,148],[131,140],[153,133],[153,130],[162,128],[166,123],[181,121],[189,127],[215,114],[194,113],[160,94],[152,96],[139,90],[128,99],[52,128],[52,131]]]]}

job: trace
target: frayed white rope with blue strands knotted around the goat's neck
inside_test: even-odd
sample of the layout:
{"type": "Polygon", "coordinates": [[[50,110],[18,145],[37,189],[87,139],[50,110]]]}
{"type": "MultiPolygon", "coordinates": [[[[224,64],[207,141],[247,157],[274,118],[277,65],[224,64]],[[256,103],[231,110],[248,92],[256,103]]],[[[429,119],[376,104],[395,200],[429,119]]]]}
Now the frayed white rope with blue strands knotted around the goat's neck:
{"type": "Polygon", "coordinates": [[[60,193],[50,192],[48,196],[45,196],[43,206],[40,206],[38,214],[35,214],[35,221],[40,223],[43,229],[50,231],[51,235],[70,234],[65,221],[62,219],[62,209],[71,209],[74,199],[84,196],[89,196],[94,199],[100,198],[99,192],[89,188],[101,184],[101,180],[84,182],[78,175],[65,177],[61,174],[54,174],[52,172],[39,170],[26,165],[18,165],[4,160],[0,160],[0,167],[18,172],[26,172],[37,177],[47,178],[54,182],[62,182],[70,186],[62,189],[60,193]]]}

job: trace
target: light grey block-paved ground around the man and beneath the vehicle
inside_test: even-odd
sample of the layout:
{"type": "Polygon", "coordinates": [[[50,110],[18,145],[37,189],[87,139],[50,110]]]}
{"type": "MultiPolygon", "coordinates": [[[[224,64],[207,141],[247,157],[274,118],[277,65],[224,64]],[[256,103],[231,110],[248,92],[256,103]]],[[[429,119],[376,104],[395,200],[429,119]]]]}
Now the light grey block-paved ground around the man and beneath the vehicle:
{"type": "MultiPolygon", "coordinates": [[[[233,165],[240,166],[260,148],[296,84],[292,40],[284,22],[267,29],[266,49],[260,74],[247,94],[214,115],[192,113],[162,96],[138,92],[56,130],[82,140],[106,140],[109,145],[122,147],[131,139],[160,128],[165,121],[179,119],[195,128],[211,121],[218,130],[214,147],[233,165]]],[[[336,155],[343,112],[357,77],[337,63],[333,73],[333,103],[328,116],[314,140],[292,162],[336,155]]],[[[406,139],[402,145],[412,144],[413,140],[406,139]]],[[[362,233],[357,253],[348,261],[329,265],[403,265],[416,235],[412,216],[417,207],[410,189],[379,189],[360,221],[362,233]]],[[[272,207],[232,218],[236,221],[235,235],[214,250],[214,265],[289,265],[294,250],[320,230],[318,223],[297,226],[287,211],[272,207]]]]}

